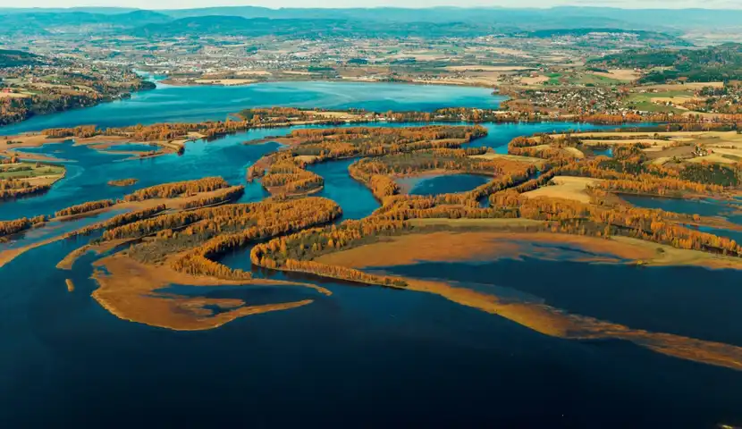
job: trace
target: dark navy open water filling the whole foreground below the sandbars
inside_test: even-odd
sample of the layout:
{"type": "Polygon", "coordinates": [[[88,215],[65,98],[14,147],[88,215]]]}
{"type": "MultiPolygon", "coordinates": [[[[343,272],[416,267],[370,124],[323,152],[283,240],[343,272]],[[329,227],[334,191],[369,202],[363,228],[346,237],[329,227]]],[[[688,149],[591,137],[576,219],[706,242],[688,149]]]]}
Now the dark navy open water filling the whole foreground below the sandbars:
{"type": "MultiPolygon", "coordinates": [[[[414,422],[435,427],[460,427],[462,422],[507,427],[590,427],[595,422],[601,427],[653,427],[660,420],[674,427],[712,427],[719,421],[739,421],[742,398],[737,388],[742,380],[736,372],[664,357],[619,341],[546,337],[496,315],[423,293],[325,282],[333,295],[313,296],[312,305],[250,316],[207,332],[171,332],[132,324],[90,299],[95,285],[87,278],[89,270],[24,270],[39,260],[56,261],[72,248],[72,243],[55,243],[0,269],[3,275],[23,279],[23,284],[0,286],[4,322],[0,334],[5,344],[13,344],[0,355],[0,368],[4,368],[0,398],[8,427],[37,427],[50,419],[61,426],[84,425],[90,418],[111,418],[114,426],[132,425],[143,415],[148,416],[148,425],[168,427],[194,422],[341,425],[358,416],[374,426],[414,422]],[[74,293],[66,291],[64,278],[75,282],[74,293]],[[121,404],[126,404],[126,413],[121,413],[121,404]],[[291,413],[275,412],[287,404],[291,413]],[[336,409],[328,413],[327,404],[336,409]]],[[[76,266],[86,266],[90,260],[76,266]]],[[[600,271],[606,265],[587,266],[594,270],[587,274],[588,280],[603,282],[606,275],[615,276],[605,296],[598,297],[613,311],[626,308],[622,302],[632,308],[662,310],[644,301],[674,299],[670,302],[679,306],[677,311],[675,307],[663,311],[679,314],[681,298],[704,295],[696,291],[678,296],[668,282],[662,300],[653,299],[653,290],[642,293],[638,287],[632,289],[635,297],[622,296],[619,278],[627,275],[628,268],[600,271]],[[611,306],[610,300],[616,298],[619,305],[611,306]]],[[[573,296],[575,301],[592,302],[603,290],[596,283],[566,278],[553,283],[561,277],[543,268],[522,265],[512,274],[527,271],[527,276],[516,277],[518,282],[502,271],[496,277],[540,294],[574,284],[574,290],[561,295],[573,296]],[[534,272],[552,274],[552,281],[523,282],[534,272]]],[[[575,265],[563,272],[584,268],[575,265]]],[[[465,279],[473,271],[451,273],[465,279]]],[[[437,273],[446,272],[447,268],[437,273]]],[[[687,273],[678,275],[685,278],[687,273]]],[[[493,275],[478,280],[492,282],[493,275]]],[[[723,290],[717,283],[713,283],[714,293],[706,294],[711,297],[708,304],[731,307],[730,302],[713,298],[723,290]]],[[[654,290],[661,287],[657,283],[654,290]]],[[[187,287],[175,288],[183,292],[187,287]]],[[[738,296],[738,290],[727,289],[726,293],[738,296]]],[[[237,292],[207,288],[204,293],[224,297],[237,292]]],[[[284,293],[279,300],[308,295],[302,290],[284,293]]],[[[258,295],[257,302],[267,300],[258,295]]],[[[249,292],[242,290],[240,298],[250,299],[249,292]]],[[[687,303],[686,308],[693,307],[687,303]]],[[[646,311],[623,312],[628,313],[651,317],[646,311]]],[[[699,322],[703,326],[728,322],[729,315],[720,310],[715,317],[699,322]]],[[[687,325],[690,320],[687,316],[687,325]]]]}

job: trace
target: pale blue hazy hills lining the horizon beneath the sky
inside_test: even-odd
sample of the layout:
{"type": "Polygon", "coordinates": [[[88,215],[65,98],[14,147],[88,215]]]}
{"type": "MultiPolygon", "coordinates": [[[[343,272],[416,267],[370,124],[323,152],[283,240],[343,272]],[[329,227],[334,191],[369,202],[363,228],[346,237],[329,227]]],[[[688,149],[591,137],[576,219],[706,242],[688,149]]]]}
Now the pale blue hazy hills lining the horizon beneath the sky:
{"type": "MultiPolygon", "coordinates": [[[[136,16],[136,14],[131,15],[136,16]]],[[[520,29],[593,28],[670,29],[740,27],[742,11],[712,9],[617,9],[609,7],[552,7],[547,9],[518,9],[501,7],[430,7],[421,9],[376,8],[280,8],[256,6],[223,6],[195,9],[158,10],[157,12],[114,7],[80,8],[0,8],[0,18],[9,24],[48,23],[54,26],[96,23],[106,25],[145,25],[154,21],[206,16],[232,16],[246,19],[272,20],[340,20],[354,22],[452,23],[467,26],[517,27],[520,29]],[[128,21],[127,13],[149,12],[144,21],[128,21]],[[128,21],[128,22],[127,22],[128,21]]],[[[3,29],[9,31],[13,25],[3,29]]]]}

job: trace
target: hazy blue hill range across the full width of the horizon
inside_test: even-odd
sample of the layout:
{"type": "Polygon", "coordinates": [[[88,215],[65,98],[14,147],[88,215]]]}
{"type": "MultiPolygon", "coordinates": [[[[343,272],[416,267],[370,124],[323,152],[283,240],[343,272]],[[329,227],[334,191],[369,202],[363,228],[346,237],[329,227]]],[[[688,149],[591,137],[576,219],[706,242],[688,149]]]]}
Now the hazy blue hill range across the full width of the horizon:
{"type": "MultiPolygon", "coordinates": [[[[650,31],[679,36],[687,29],[742,28],[742,10],[626,10],[605,7],[554,7],[551,9],[510,8],[458,8],[433,7],[405,9],[379,8],[282,8],[268,9],[254,6],[207,7],[145,11],[131,8],[72,8],[72,9],[13,9],[0,8],[0,34],[45,34],[63,33],[85,26],[87,32],[119,31],[136,29],[147,34],[156,34],[149,24],[178,25],[187,23],[197,27],[201,33],[212,31],[229,34],[270,34],[265,26],[260,30],[240,29],[240,22],[230,18],[251,21],[263,25],[272,22],[279,31],[285,32],[288,22],[299,23],[306,34],[389,34],[405,35],[407,26],[412,35],[425,36],[441,31],[442,36],[469,36],[498,31],[540,31],[550,29],[622,29],[650,31]],[[187,21],[180,21],[187,20],[187,21]],[[285,25],[284,25],[285,24],[285,25]],[[384,28],[385,31],[384,31],[384,28]],[[308,32],[308,29],[311,29],[308,32]]],[[[191,29],[192,32],[194,29],[191,29]]],[[[183,34],[175,29],[163,31],[183,34]]]]}

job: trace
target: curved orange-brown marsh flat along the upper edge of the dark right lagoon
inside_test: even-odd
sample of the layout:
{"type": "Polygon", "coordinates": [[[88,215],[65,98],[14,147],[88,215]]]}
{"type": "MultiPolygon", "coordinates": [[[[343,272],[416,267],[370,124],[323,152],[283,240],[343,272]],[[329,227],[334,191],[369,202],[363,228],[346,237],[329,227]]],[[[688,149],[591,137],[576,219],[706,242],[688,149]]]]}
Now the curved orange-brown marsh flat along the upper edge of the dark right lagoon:
{"type": "Polygon", "coordinates": [[[401,262],[413,264],[416,261],[443,262],[472,258],[490,260],[493,257],[518,259],[528,256],[548,259],[550,255],[546,253],[539,256],[523,248],[525,243],[543,243],[572,245],[594,254],[586,261],[578,260],[577,262],[606,262],[610,261],[609,257],[614,257],[618,258],[619,262],[616,263],[627,265],[650,267],[692,265],[707,269],[742,270],[742,258],[723,257],[700,250],[673,248],[669,245],[630,237],[611,236],[610,239],[605,239],[559,232],[519,231],[519,228],[524,225],[543,224],[540,221],[524,223],[524,220],[520,218],[417,219],[411,223],[420,227],[437,225],[443,229],[392,236],[388,240],[329,253],[315,260],[327,265],[374,268],[401,265],[401,262]],[[445,243],[445,246],[441,246],[441,242],[445,243]],[[394,247],[400,247],[403,251],[394,252],[390,249],[394,247]],[[662,248],[661,253],[658,251],[660,248],[662,248]],[[456,252],[459,252],[459,258],[456,252]]]}

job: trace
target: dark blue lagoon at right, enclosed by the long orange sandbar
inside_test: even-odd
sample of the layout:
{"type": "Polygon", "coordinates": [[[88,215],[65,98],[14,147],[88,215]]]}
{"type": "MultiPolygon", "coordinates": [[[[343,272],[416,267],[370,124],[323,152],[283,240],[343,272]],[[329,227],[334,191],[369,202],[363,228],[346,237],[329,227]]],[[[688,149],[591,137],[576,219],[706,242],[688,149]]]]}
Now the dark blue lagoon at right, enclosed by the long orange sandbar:
{"type": "Polygon", "coordinates": [[[736,270],[647,268],[531,257],[422,262],[381,270],[465,286],[472,283],[468,287],[485,292],[493,287],[510,288],[578,315],[742,347],[742,325],[735,322],[736,308],[742,302],[736,270]]]}

